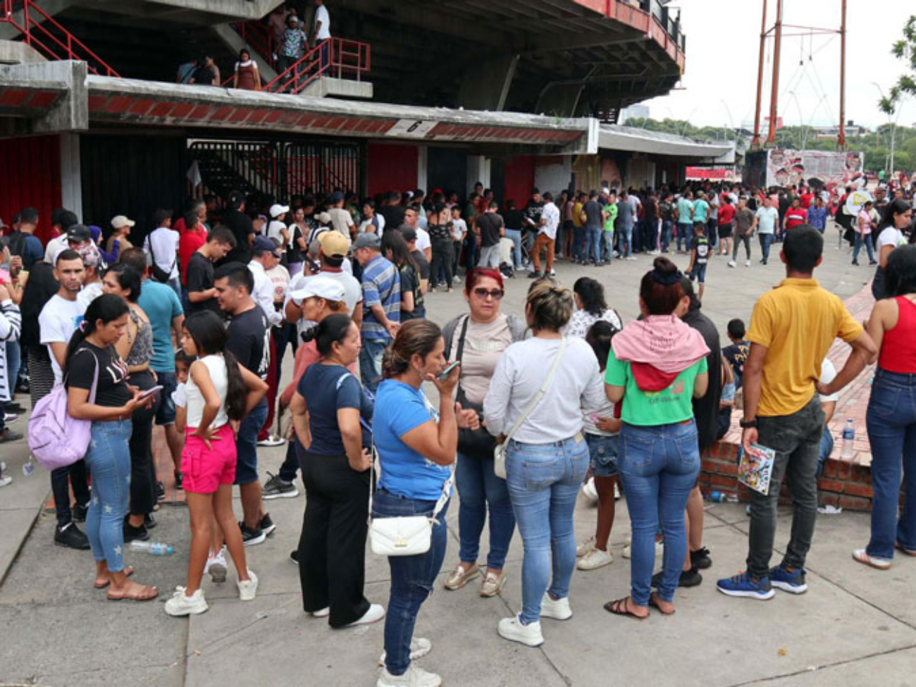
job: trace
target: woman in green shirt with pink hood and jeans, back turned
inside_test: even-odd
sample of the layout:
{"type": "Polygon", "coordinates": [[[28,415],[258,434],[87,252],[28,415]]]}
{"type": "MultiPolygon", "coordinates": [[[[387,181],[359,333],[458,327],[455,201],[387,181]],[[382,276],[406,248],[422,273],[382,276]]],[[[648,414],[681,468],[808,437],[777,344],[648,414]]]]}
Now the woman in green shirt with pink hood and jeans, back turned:
{"type": "Polygon", "coordinates": [[[692,398],[708,384],[703,336],[681,321],[690,299],[681,273],[666,257],[642,278],[639,310],[612,342],[605,370],[607,398],[623,399],[618,467],[633,530],[630,595],[605,609],[639,619],[649,605],[674,613],[672,600],[687,540],[684,507],[700,472],[692,398]],[[650,594],[655,533],[665,540],[661,582],[650,594]]]}

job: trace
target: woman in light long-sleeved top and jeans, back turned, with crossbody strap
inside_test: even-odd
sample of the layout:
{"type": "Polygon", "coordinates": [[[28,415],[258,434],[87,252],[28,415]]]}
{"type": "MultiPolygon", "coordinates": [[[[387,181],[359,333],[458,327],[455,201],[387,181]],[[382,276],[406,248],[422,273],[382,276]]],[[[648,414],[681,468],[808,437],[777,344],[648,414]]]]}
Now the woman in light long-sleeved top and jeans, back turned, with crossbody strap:
{"type": "Polygon", "coordinates": [[[573,509],[589,463],[582,409],[602,407],[605,395],[592,347],[561,333],[573,316],[573,292],[541,278],[529,289],[525,315],[533,336],[500,356],[484,417],[497,442],[511,435],[506,484],[524,548],[521,613],[500,620],[498,631],[537,647],[541,617],[573,616],[573,509]]]}

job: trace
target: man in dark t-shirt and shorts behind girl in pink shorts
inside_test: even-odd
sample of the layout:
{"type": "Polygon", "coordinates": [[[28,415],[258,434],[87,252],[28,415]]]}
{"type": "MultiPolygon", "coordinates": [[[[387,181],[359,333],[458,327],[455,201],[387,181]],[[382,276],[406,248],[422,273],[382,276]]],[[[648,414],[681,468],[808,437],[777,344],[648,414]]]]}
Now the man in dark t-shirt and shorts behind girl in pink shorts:
{"type": "MultiPolygon", "coordinates": [[[[267,315],[251,298],[255,277],[244,263],[226,263],[213,274],[213,287],[220,308],[232,317],[226,348],[239,365],[245,365],[261,379],[270,366],[270,327],[267,315]]],[[[267,399],[262,398],[242,420],[235,440],[238,453],[235,484],[242,495],[245,520],[239,523],[245,546],[260,544],[277,526],[264,512],[261,483],[257,479],[257,432],[267,420],[267,399]]]]}

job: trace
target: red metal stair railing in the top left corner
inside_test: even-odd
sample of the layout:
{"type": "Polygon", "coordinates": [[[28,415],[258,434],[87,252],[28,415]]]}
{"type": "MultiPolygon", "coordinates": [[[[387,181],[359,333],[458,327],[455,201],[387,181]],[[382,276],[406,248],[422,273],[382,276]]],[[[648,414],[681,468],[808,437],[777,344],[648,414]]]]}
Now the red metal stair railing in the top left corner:
{"type": "Polygon", "coordinates": [[[3,0],[3,16],[0,16],[0,22],[16,27],[22,34],[23,42],[50,60],[79,60],[86,62],[93,74],[118,76],[102,58],[87,48],[70,31],[60,26],[60,23],[41,9],[34,0],[3,0]],[[22,14],[20,20],[16,20],[16,13],[22,14]]]}

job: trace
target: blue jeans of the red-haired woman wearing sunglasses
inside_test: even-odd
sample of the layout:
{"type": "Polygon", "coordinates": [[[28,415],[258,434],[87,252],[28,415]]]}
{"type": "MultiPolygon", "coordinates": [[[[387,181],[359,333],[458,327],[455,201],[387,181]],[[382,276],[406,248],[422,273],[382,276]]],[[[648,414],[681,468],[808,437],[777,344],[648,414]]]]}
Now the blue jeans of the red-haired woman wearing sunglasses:
{"type": "Polygon", "coordinates": [[[462,562],[477,562],[480,534],[484,531],[487,506],[490,511],[490,552],[486,565],[502,570],[515,531],[515,515],[506,480],[493,472],[493,457],[477,458],[458,453],[455,485],[461,503],[458,508],[458,557],[462,562]]]}

